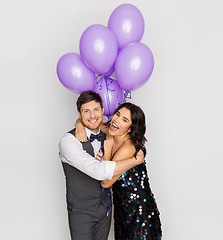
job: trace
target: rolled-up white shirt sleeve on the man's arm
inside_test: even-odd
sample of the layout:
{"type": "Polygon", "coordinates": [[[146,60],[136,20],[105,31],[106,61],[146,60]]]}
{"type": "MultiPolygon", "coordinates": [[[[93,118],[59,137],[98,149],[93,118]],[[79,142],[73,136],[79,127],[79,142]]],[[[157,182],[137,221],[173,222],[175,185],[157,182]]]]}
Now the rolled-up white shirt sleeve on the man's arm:
{"type": "Polygon", "coordinates": [[[60,159],[88,176],[97,179],[111,179],[116,167],[113,161],[98,161],[85,150],[72,134],[67,133],[59,143],[60,159]]]}

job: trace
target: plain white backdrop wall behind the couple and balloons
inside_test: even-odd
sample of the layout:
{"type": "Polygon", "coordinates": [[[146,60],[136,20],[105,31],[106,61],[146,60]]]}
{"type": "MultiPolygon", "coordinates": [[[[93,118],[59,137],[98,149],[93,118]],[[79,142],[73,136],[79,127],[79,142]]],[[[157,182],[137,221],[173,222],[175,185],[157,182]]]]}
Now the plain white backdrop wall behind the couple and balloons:
{"type": "Polygon", "coordinates": [[[163,239],[221,238],[223,2],[1,0],[0,239],[70,239],[58,142],[73,127],[77,95],[60,84],[56,64],[125,2],[142,12],[142,42],[155,58],[132,101],[147,117],[163,239]]]}

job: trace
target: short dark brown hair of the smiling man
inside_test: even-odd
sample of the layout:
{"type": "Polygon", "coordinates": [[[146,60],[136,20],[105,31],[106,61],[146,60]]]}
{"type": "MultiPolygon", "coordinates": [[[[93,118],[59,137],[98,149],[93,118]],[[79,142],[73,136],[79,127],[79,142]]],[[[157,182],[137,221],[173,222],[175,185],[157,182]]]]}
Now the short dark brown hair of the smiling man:
{"type": "Polygon", "coordinates": [[[76,105],[77,105],[78,112],[81,111],[81,106],[83,104],[88,103],[90,101],[95,101],[100,103],[101,108],[103,108],[101,96],[98,93],[93,91],[85,91],[85,92],[82,92],[77,99],[76,105]]]}

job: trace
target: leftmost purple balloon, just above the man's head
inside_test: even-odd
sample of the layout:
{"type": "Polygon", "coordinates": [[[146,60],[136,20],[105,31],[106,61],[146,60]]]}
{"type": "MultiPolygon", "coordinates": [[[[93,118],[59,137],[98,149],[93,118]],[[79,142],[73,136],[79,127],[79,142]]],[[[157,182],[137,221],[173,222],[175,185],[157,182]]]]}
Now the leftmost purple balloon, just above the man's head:
{"type": "Polygon", "coordinates": [[[69,90],[81,93],[95,87],[94,73],[82,62],[79,54],[67,53],[57,63],[60,82],[69,90]]]}

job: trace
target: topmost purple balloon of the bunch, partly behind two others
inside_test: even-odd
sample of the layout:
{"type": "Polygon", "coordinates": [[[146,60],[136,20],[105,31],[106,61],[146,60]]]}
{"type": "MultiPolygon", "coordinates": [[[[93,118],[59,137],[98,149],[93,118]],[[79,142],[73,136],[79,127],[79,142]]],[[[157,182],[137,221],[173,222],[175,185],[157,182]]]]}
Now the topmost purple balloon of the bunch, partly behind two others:
{"type": "Polygon", "coordinates": [[[132,4],[117,7],[108,20],[108,27],[115,34],[119,49],[142,39],[145,23],[142,13],[132,4]]]}

